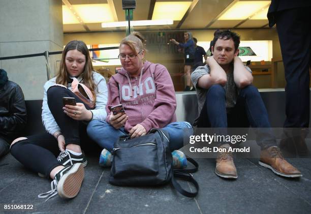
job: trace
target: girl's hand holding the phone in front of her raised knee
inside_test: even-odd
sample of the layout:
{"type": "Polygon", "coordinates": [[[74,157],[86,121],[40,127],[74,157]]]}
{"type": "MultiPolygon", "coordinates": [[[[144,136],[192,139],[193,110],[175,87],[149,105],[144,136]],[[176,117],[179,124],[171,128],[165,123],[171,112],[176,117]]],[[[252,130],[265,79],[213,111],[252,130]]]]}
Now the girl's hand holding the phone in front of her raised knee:
{"type": "Polygon", "coordinates": [[[65,105],[63,110],[65,114],[75,120],[89,121],[92,118],[92,112],[87,110],[83,103],[77,103],[76,106],[65,105]]]}

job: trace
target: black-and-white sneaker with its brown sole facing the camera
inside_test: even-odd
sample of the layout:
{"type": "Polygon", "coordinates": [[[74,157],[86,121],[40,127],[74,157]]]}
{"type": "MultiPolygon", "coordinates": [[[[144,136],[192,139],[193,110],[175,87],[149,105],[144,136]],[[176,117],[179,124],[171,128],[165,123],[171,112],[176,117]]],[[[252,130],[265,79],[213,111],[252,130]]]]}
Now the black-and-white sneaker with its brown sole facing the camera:
{"type": "Polygon", "coordinates": [[[46,201],[57,193],[62,198],[74,198],[78,195],[84,178],[84,168],[77,163],[60,170],[51,182],[51,190],[38,195],[38,198],[46,198],[46,201]]]}

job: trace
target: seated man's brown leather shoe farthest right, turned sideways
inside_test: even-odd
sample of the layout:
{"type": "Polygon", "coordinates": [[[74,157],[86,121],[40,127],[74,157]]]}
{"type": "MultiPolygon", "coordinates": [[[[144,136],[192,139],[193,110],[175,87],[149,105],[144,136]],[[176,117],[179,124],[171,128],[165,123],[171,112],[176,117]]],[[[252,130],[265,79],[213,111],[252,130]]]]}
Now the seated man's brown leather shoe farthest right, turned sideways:
{"type": "Polygon", "coordinates": [[[301,172],[288,163],[277,146],[271,146],[260,153],[259,165],[271,169],[284,177],[301,177],[301,172]]]}

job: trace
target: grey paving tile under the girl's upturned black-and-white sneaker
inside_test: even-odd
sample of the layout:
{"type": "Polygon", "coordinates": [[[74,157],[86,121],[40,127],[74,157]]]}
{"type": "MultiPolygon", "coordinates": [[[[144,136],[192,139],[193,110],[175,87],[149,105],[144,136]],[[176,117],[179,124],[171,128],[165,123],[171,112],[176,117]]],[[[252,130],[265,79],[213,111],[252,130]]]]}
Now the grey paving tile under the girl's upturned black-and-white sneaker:
{"type": "Polygon", "coordinates": [[[16,166],[13,167],[13,171],[8,176],[13,179],[17,175],[21,175],[17,177],[18,179],[10,182],[2,191],[0,190],[0,204],[33,204],[34,210],[32,211],[34,212],[83,213],[103,172],[103,169],[95,164],[97,161],[97,158],[88,158],[88,166],[85,167],[85,177],[81,190],[74,199],[64,200],[56,195],[47,202],[45,199],[38,198],[38,195],[51,190],[51,180],[41,178],[36,173],[15,164],[16,166]],[[23,172],[21,173],[19,170],[23,170],[23,172]]]}

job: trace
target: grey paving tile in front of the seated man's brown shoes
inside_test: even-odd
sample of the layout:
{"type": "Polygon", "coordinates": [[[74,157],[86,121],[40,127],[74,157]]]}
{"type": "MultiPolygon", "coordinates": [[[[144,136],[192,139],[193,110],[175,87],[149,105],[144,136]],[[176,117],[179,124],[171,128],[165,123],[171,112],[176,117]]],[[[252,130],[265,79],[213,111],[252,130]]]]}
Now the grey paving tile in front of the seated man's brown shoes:
{"type": "MultiPolygon", "coordinates": [[[[310,213],[311,203],[276,182],[278,176],[257,166],[240,167],[228,180],[200,170],[198,204],[203,213],[310,213]]],[[[296,182],[296,181],[294,181],[296,182]]]]}

